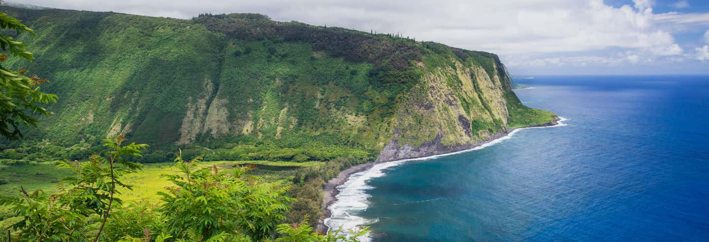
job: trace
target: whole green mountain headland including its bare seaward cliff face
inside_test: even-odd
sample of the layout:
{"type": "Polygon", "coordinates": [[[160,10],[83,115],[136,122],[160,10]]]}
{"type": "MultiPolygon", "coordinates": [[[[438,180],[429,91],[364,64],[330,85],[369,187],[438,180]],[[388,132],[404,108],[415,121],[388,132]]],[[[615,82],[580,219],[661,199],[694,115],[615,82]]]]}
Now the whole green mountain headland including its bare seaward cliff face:
{"type": "Polygon", "coordinates": [[[37,60],[8,64],[50,79],[43,90],[60,97],[26,143],[96,145],[125,133],[154,151],[265,145],[292,150],[251,158],[322,160],[384,149],[379,160],[393,160],[554,123],[520,103],[491,53],[254,13],[0,11],[36,33],[18,39],[37,60]]]}

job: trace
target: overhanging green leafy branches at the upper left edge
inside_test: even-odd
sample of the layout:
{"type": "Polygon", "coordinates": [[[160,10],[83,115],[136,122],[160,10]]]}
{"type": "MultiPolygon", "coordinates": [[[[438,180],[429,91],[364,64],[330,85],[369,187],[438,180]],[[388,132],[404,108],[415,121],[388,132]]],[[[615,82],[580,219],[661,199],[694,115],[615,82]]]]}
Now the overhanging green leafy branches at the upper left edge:
{"type": "MultiPolygon", "coordinates": [[[[0,28],[10,29],[20,33],[34,32],[16,18],[0,13],[0,28]]],[[[0,34],[0,49],[9,52],[14,57],[32,61],[34,56],[25,50],[26,45],[14,38],[0,34]]],[[[0,62],[8,59],[8,55],[0,54],[0,62]]],[[[27,70],[12,71],[0,65],[0,136],[9,140],[23,138],[21,126],[37,126],[38,115],[50,115],[47,109],[37,104],[56,102],[57,96],[40,92],[38,84],[48,82],[37,75],[23,75],[27,70]]]]}

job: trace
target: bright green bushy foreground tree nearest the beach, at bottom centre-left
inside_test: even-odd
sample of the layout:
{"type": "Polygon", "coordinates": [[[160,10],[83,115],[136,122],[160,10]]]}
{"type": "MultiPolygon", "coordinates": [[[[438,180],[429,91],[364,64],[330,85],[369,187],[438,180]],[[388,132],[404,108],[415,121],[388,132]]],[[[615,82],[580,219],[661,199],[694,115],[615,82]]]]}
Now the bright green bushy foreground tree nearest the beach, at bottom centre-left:
{"type": "Polygon", "coordinates": [[[261,241],[274,235],[290,209],[286,204],[294,201],[284,195],[289,186],[246,175],[252,166],[219,170],[199,167],[201,157],[183,160],[182,153],[176,155],[182,174],[167,176],[176,187],[158,192],[167,230],[175,238],[206,239],[225,233],[261,241]]]}

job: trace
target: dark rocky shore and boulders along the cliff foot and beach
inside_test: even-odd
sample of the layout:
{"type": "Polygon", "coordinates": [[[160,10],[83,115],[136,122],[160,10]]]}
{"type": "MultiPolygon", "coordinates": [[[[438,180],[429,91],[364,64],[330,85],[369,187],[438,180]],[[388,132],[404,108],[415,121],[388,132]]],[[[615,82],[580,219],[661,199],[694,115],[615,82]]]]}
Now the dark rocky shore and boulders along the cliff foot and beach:
{"type": "MultiPolygon", "coordinates": [[[[545,126],[554,126],[557,125],[557,121],[559,121],[558,116],[554,116],[554,119],[550,121],[549,123],[543,123],[543,124],[537,124],[537,125],[532,125],[532,126],[527,126],[523,128],[533,128],[533,127],[545,127],[545,126]]],[[[379,164],[379,163],[385,163],[389,161],[394,161],[394,160],[405,160],[405,159],[413,159],[413,158],[422,158],[426,156],[431,156],[431,155],[442,155],[445,153],[453,153],[461,150],[469,150],[471,148],[475,148],[477,146],[483,145],[485,143],[494,141],[498,138],[501,138],[503,136],[506,136],[508,133],[514,131],[515,129],[518,128],[511,128],[508,129],[506,132],[503,133],[496,133],[494,136],[491,136],[488,140],[482,141],[479,143],[471,143],[471,144],[465,144],[465,145],[453,145],[453,146],[447,146],[443,145],[440,143],[440,137],[435,138],[435,140],[423,143],[419,148],[413,148],[411,145],[406,144],[401,147],[398,145],[398,141],[392,140],[389,141],[384,146],[384,149],[381,150],[379,153],[379,157],[376,158],[376,161],[374,163],[367,163],[367,164],[361,164],[361,165],[354,165],[350,168],[347,168],[345,170],[342,170],[340,174],[337,175],[337,177],[331,179],[328,181],[328,183],[325,184],[325,187],[323,188],[323,216],[318,219],[318,231],[327,232],[328,231],[328,226],[325,225],[325,219],[329,218],[332,215],[332,212],[328,207],[330,207],[333,202],[337,201],[337,194],[340,193],[340,190],[337,189],[338,186],[345,184],[347,182],[347,179],[350,177],[350,175],[357,173],[357,172],[362,172],[364,170],[368,170],[372,166],[379,164]]]]}

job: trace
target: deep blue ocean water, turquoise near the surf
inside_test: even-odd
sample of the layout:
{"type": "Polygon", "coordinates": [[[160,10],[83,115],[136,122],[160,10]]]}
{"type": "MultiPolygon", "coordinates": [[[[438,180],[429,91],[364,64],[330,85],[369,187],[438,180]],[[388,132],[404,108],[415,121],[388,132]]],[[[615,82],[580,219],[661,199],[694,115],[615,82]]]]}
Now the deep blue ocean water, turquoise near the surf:
{"type": "Polygon", "coordinates": [[[369,180],[375,241],[709,241],[709,77],[537,77],[567,126],[369,180]]]}

